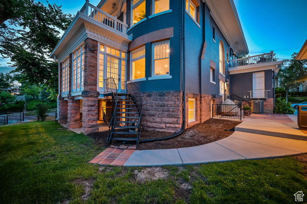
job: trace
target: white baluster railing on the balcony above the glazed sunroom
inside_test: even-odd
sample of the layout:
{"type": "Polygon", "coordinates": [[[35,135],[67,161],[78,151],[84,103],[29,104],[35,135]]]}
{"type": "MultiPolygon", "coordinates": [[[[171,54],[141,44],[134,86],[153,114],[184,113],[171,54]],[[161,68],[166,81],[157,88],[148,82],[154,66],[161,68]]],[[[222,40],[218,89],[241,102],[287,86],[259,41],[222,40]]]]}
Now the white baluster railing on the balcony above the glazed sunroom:
{"type": "Polygon", "coordinates": [[[122,21],[119,21],[117,18],[90,4],[88,0],[85,2],[80,12],[88,17],[93,18],[96,21],[99,21],[104,25],[107,25],[119,32],[127,34],[127,24],[123,23],[122,21]]]}

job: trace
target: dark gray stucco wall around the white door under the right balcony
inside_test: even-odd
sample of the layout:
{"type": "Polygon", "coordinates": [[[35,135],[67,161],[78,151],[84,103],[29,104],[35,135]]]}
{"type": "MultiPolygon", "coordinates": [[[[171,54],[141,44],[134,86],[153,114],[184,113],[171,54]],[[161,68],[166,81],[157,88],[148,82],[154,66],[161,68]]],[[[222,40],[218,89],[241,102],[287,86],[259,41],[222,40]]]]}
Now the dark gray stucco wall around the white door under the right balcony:
{"type": "MultiPolygon", "coordinates": [[[[264,71],[264,89],[268,90],[268,98],[273,98],[273,71],[262,71],[264,71]]],[[[250,96],[250,92],[248,91],[253,90],[253,73],[254,72],[231,74],[230,93],[238,95],[241,98],[244,98],[244,96],[250,96]]]]}

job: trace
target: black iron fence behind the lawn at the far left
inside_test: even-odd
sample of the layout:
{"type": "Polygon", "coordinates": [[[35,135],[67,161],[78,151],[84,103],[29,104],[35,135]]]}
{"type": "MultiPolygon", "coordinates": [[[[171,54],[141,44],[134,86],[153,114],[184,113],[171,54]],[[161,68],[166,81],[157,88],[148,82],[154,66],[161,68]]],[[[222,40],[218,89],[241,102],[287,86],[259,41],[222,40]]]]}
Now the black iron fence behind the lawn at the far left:
{"type": "MultiPolygon", "coordinates": [[[[47,117],[45,121],[56,121],[57,111],[46,113],[47,117]]],[[[39,121],[39,117],[35,111],[24,111],[24,112],[8,112],[6,115],[0,115],[0,125],[9,124],[14,122],[23,122],[23,121],[39,121]]]]}

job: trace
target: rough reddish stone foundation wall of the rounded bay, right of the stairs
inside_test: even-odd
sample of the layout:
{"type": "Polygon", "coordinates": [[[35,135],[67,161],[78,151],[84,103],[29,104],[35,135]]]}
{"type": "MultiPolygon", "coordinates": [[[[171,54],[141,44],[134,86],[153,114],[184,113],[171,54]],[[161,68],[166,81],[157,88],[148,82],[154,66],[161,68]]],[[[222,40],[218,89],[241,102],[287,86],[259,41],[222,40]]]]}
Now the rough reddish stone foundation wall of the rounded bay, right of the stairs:
{"type": "Polygon", "coordinates": [[[145,130],[180,131],[182,91],[142,92],[142,127],[145,130]]]}

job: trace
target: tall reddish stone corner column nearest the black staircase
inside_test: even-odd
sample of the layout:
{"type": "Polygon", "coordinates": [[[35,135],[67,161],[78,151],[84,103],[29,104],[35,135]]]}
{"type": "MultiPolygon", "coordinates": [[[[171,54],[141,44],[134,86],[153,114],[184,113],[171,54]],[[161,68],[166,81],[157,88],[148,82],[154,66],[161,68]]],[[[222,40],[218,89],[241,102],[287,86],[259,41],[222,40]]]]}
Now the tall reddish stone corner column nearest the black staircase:
{"type": "Polygon", "coordinates": [[[82,92],[82,128],[81,132],[97,132],[98,97],[97,91],[97,57],[98,42],[87,38],[84,44],[84,91],[82,92]]]}

